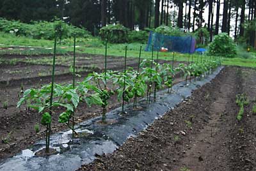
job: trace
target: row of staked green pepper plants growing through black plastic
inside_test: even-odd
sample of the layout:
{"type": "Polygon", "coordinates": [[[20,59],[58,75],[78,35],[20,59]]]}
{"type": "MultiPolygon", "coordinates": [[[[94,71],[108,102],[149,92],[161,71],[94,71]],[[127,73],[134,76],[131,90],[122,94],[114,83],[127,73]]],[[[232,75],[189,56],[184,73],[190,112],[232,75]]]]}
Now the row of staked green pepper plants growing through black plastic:
{"type": "Polygon", "coordinates": [[[152,52],[151,60],[143,60],[141,62],[139,58],[138,70],[135,71],[132,68],[127,68],[126,56],[127,48],[125,50],[124,71],[107,71],[105,56],[105,70],[103,73],[94,72],[88,75],[82,82],[75,82],[76,53],[74,53],[73,84],[68,85],[54,84],[54,56],[52,84],[44,85],[40,89],[28,89],[22,92],[23,97],[20,99],[17,107],[25,104],[28,110],[33,108],[42,113],[41,123],[47,128],[46,152],[49,152],[52,108],[65,108],[65,112],[59,114],[59,122],[67,123],[68,127],[72,130],[72,138],[74,138],[76,134],[74,131],[74,113],[79,103],[94,104],[102,107],[102,123],[106,123],[108,99],[113,94],[118,94],[118,99],[122,100],[122,112],[125,113],[125,102],[133,100],[134,107],[136,108],[138,98],[147,94],[147,100],[150,103],[152,91],[154,91],[154,100],[156,100],[157,89],[161,89],[164,85],[168,89],[172,89],[175,73],[181,71],[186,77],[187,82],[188,78],[191,80],[191,77],[200,77],[220,65],[219,59],[209,57],[204,62],[201,59],[201,61],[196,61],[195,63],[180,64],[174,69],[171,64],[159,64],[158,53],[157,59],[154,61],[152,52]],[[107,85],[112,86],[107,87],[107,85]]]}

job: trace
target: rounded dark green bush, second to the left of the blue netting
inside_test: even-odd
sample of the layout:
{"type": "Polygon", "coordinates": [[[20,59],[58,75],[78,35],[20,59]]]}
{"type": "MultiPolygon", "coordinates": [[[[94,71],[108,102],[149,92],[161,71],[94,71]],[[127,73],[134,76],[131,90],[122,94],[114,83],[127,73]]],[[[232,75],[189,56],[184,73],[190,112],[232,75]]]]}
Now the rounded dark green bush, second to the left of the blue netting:
{"type": "Polygon", "coordinates": [[[100,29],[102,40],[108,39],[111,43],[125,43],[128,40],[129,29],[121,24],[109,25],[100,29]]]}

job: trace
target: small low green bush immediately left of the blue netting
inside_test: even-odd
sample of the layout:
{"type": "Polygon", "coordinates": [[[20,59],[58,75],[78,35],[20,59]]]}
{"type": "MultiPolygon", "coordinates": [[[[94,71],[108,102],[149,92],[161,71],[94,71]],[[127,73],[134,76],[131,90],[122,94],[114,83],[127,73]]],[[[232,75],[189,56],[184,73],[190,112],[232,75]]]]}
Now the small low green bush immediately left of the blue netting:
{"type": "Polygon", "coordinates": [[[128,40],[130,43],[147,43],[148,34],[148,31],[129,31],[128,40]]]}

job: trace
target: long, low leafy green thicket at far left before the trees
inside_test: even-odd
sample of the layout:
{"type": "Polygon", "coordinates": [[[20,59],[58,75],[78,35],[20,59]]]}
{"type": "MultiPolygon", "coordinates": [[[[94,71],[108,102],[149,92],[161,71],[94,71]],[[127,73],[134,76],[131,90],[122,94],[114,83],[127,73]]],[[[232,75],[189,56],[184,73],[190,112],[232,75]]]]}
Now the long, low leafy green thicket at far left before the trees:
{"type": "Polygon", "coordinates": [[[53,40],[55,33],[58,31],[58,36],[61,34],[61,38],[71,38],[74,33],[77,37],[88,38],[90,33],[84,28],[78,28],[62,22],[61,20],[55,20],[54,22],[31,22],[31,24],[24,24],[20,21],[6,20],[0,18],[0,31],[5,33],[12,33],[16,36],[28,36],[34,39],[53,40]]]}

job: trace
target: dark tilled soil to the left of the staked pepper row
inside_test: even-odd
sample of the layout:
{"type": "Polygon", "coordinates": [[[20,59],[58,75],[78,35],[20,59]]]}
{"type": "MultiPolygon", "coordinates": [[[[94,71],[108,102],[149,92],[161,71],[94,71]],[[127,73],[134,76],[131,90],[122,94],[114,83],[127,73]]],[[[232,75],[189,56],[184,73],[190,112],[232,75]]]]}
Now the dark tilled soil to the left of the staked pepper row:
{"type": "MultiPolygon", "coordinates": [[[[17,56],[22,57],[19,55],[9,57],[13,59],[17,56]]],[[[84,61],[88,61],[86,57],[92,57],[86,54],[79,54],[78,56],[85,56],[84,61]]],[[[0,57],[4,57],[4,59],[6,59],[8,56],[0,57]]],[[[42,57],[42,55],[23,57],[42,57]]],[[[49,57],[51,57],[51,55],[49,57]]],[[[100,60],[103,59],[103,56],[93,57],[100,60]]],[[[134,68],[136,68],[137,60],[129,59],[128,61],[129,66],[134,66],[134,68]]],[[[161,63],[165,62],[166,61],[161,61],[161,63]]],[[[102,64],[102,61],[96,61],[96,63],[102,64]]],[[[122,60],[118,61],[118,57],[108,57],[109,70],[122,70],[122,63],[122,60]]],[[[170,61],[168,61],[168,63],[170,63],[170,61]]],[[[175,63],[175,66],[177,66],[177,64],[179,63],[175,63]]],[[[7,142],[0,142],[0,160],[13,156],[22,149],[28,148],[29,145],[34,144],[37,140],[44,138],[44,126],[40,125],[39,133],[35,132],[35,124],[40,123],[41,115],[31,110],[27,111],[25,110],[25,107],[16,108],[16,105],[17,101],[19,101],[21,85],[24,90],[26,90],[30,87],[40,87],[51,82],[50,75],[46,75],[44,77],[38,76],[38,72],[40,71],[51,71],[51,66],[17,63],[14,65],[3,65],[3,67],[3,69],[1,68],[1,72],[4,73],[3,77],[1,75],[2,81],[0,79],[0,141],[7,139],[7,142]],[[7,72],[6,70],[10,71],[7,72]],[[25,75],[26,70],[30,70],[28,77],[25,75]],[[21,73],[18,71],[21,71],[21,73]],[[5,107],[4,104],[7,106],[5,107]]],[[[70,73],[61,73],[65,68],[67,67],[57,66],[57,70],[60,71],[60,74],[56,76],[57,83],[67,84],[72,81],[72,75],[70,73]],[[58,70],[58,68],[60,68],[60,70],[58,70]],[[61,69],[63,70],[61,71],[61,69]]],[[[99,68],[94,68],[90,71],[81,72],[79,73],[81,78],[77,77],[77,81],[83,80],[83,78],[92,71],[100,70],[99,68]]],[[[184,80],[184,78],[180,78],[180,75],[177,75],[175,82],[180,82],[182,80],[184,80]]],[[[120,102],[117,100],[116,96],[113,96],[109,100],[108,110],[118,106],[120,106],[120,102]]],[[[59,113],[61,110],[63,109],[57,108],[56,112],[58,111],[59,113]]],[[[100,115],[101,110],[102,109],[97,106],[87,107],[86,104],[79,105],[76,111],[76,123],[80,123],[81,121],[100,115]]],[[[53,115],[52,133],[65,129],[67,129],[67,126],[58,123],[58,115],[53,115]]]]}

